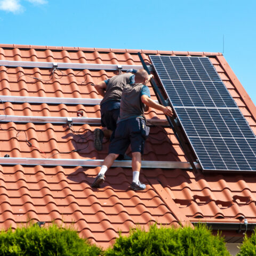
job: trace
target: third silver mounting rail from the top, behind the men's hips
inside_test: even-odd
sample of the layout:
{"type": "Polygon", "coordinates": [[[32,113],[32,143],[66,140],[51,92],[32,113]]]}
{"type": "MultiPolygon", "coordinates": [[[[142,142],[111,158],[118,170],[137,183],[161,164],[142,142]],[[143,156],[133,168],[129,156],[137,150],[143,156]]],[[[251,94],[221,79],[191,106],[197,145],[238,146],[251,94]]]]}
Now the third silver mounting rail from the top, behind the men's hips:
{"type": "MultiPolygon", "coordinates": [[[[54,117],[54,116],[5,116],[0,115],[0,122],[14,122],[14,123],[52,123],[52,124],[66,124],[71,122],[73,124],[97,124],[101,125],[100,118],[89,117],[54,117]]],[[[167,120],[164,119],[147,119],[148,125],[169,126],[167,120]]]]}

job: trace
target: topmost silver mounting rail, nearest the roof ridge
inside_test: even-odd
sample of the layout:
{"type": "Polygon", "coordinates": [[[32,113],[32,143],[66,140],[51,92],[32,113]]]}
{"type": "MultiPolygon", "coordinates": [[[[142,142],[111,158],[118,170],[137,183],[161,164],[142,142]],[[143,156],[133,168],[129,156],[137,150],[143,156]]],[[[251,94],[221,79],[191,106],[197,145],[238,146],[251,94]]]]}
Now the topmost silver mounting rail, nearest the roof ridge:
{"type": "MultiPolygon", "coordinates": [[[[141,65],[113,65],[113,64],[94,64],[94,63],[70,63],[70,62],[39,62],[39,61],[15,61],[0,60],[0,66],[23,67],[23,68],[58,68],[58,69],[90,69],[90,70],[128,70],[141,69],[141,65]]],[[[153,70],[148,66],[149,70],[153,70]]]]}

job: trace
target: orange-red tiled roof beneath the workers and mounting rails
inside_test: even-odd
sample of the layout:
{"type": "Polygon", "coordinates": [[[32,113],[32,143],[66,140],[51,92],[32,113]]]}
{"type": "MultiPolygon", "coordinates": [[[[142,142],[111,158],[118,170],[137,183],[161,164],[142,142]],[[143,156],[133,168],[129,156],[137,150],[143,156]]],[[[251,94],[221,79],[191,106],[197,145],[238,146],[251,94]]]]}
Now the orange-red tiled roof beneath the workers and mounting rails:
{"type": "MultiPolygon", "coordinates": [[[[0,45],[0,60],[34,62],[98,63],[141,65],[137,52],[148,54],[206,55],[234,97],[243,115],[256,132],[256,108],[220,53],[92,49],[31,45],[0,45]]],[[[109,70],[52,70],[46,68],[0,66],[0,99],[5,96],[101,99],[91,83],[117,74],[109,70]]],[[[153,99],[156,100],[150,87],[153,99]]],[[[42,99],[43,101],[43,99],[42,99]]],[[[0,114],[36,117],[99,118],[99,105],[0,102],[0,114]],[[4,105],[4,111],[3,111],[4,105]]],[[[164,119],[150,109],[147,118],[164,119]]],[[[99,125],[1,122],[0,157],[103,159],[109,142],[98,152],[93,147],[93,130],[99,125]],[[6,131],[8,130],[8,131],[6,131]],[[25,131],[19,132],[18,131],[25,131]],[[27,142],[29,141],[31,145],[27,142]],[[81,149],[73,153],[71,150],[81,149]]],[[[130,151],[128,152],[130,154],[130,151]]],[[[179,142],[169,127],[151,127],[146,142],[145,161],[187,162],[179,142]]],[[[29,219],[55,220],[70,225],[84,237],[103,247],[139,224],[178,226],[191,222],[256,222],[256,174],[194,173],[184,169],[143,169],[140,179],[145,191],[129,189],[130,168],[111,168],[100,189],[90,184],[100,167],[0,165],[0,227],[15,228],[29,219]]]]}

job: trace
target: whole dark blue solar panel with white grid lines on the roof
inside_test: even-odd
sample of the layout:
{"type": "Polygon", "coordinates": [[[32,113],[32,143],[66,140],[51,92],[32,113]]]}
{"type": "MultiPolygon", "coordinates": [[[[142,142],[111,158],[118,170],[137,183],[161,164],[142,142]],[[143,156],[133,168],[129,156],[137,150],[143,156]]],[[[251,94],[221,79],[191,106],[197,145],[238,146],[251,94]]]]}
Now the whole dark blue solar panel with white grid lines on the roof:
{"type": "Polygon", "coordinates": [[[207,57],[150,59],[205,171],[256,171],[256,137],[207,57]]]}

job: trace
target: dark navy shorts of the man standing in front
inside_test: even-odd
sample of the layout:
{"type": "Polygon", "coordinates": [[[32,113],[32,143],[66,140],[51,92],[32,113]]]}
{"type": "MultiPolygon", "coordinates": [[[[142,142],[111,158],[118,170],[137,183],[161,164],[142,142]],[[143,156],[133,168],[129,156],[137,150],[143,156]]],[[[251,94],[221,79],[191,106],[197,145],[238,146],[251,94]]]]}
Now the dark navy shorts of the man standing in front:
{"type": "Polygon", "coordinates": [[[131,144],[132,153],[143,154],[145,141],[149,134],[149,127],[144,119],[131,118],[117,124],[115,138],[110,142],[109,154],[124,155],[131,144]]]}

